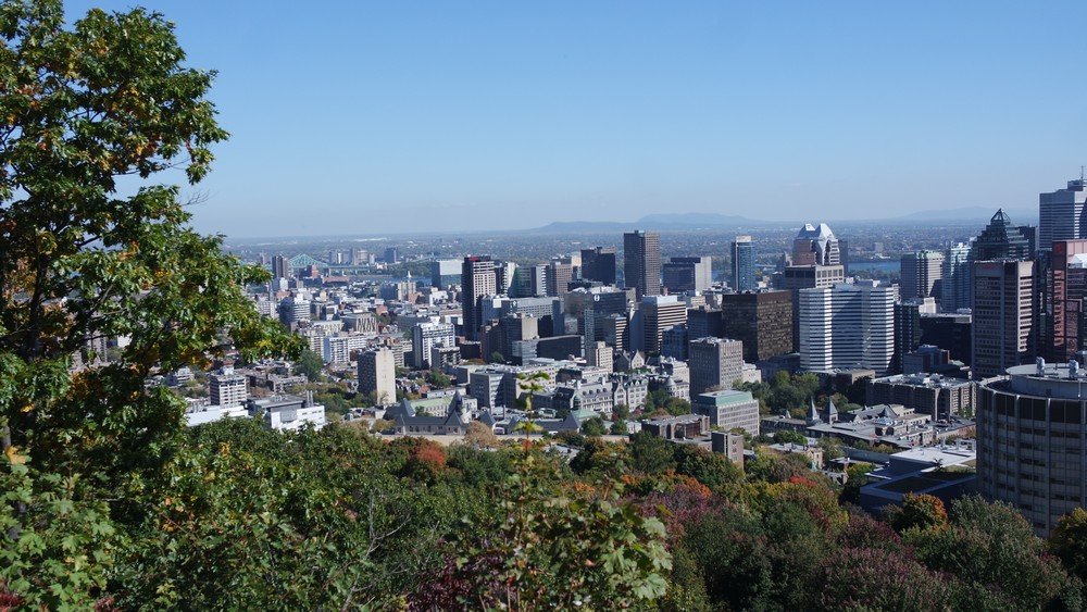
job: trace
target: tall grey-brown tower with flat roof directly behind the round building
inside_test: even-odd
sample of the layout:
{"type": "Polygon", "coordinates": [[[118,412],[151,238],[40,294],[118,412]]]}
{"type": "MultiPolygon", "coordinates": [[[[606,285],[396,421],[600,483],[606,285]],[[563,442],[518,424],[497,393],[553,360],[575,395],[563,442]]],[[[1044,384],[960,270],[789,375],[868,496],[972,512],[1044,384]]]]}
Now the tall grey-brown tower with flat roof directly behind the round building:
{"type": "Polygon", "coordinates": [[[1029,362],[1034,347],[1034,262],[974,262],[973,351],[975,378],[1000,376],[1029,362]]]}

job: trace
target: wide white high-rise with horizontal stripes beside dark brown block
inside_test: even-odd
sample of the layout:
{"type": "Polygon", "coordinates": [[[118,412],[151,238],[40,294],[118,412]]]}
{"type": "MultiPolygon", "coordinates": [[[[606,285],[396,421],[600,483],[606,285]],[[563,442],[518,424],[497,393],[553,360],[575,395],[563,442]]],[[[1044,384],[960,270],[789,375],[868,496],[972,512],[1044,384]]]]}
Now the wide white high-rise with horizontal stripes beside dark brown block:
{"type": "Polygon", "coordinates": [[[883,376],[895,354],[898,287],[878,280],[800,290],[800,366],[870,369],[883,376]]]}

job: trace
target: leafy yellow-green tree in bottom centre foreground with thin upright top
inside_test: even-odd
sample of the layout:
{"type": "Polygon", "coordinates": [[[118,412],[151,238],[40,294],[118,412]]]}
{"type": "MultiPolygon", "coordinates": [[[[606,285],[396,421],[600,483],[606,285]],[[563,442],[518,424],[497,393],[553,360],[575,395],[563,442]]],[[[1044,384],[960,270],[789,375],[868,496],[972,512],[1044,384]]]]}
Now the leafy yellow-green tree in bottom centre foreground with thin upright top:
{"type": "Polygon", "coordinates": [[[557,495],[553,471],[538,453],[520,458],[496,496],[499,511],[464,525],[446,572],[412,608],[617,610],[663,596],[672,569],[664,525],[614,491],[557,495]]]}

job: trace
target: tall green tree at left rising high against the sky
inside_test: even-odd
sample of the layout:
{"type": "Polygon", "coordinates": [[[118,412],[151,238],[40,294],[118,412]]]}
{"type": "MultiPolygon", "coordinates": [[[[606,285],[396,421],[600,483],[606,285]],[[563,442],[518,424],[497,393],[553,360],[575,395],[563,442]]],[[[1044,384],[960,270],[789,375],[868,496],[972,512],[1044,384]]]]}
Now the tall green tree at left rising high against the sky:
{"type": "Polygon", "coordinates": [[[0,563],[0,583],[27,608],[99,597],[110,533],[161,503],[147,479],[176,454],[184,402],[149,376],[299,348],[245,296],[267,275],[193,232],[179,189],[154,182],[172,167],[199,182],[227,136],[213,73],[184,59],[159,14],[0,3],[0,464],[26,467],[0,516],[33,549],[0,563]],[[117,336],[130,342],[115,362],[68,372],[117,336]]]}

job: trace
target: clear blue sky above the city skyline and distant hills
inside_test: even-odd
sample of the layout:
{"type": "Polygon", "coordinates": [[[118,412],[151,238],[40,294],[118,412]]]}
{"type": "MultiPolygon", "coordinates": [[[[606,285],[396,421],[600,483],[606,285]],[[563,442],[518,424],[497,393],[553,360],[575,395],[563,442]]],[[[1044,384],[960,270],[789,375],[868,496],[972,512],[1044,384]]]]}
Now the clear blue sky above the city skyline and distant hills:
{"type": "Polygon", "coordinates": [[[1029,208],[1087,163],[1082,1],[143,5],[220,72],[236,237],[1029,208]]]}

